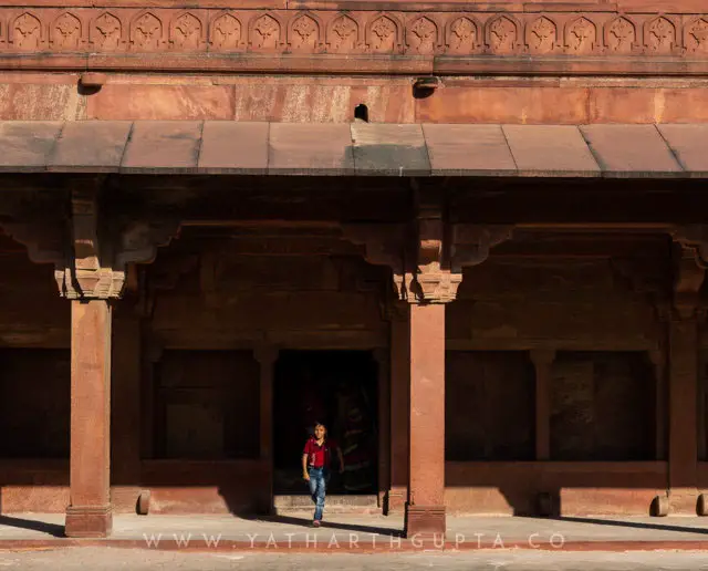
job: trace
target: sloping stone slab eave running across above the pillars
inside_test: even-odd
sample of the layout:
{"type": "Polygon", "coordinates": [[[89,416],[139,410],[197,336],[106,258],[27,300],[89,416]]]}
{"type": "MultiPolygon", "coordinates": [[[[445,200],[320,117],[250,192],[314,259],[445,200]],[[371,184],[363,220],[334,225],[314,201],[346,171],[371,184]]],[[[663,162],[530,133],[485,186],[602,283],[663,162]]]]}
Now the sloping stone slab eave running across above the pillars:
{"type": "Polygon", "coordinates": [[[708,177],[708,124],[0,122],[0,172],[708,177]]]}

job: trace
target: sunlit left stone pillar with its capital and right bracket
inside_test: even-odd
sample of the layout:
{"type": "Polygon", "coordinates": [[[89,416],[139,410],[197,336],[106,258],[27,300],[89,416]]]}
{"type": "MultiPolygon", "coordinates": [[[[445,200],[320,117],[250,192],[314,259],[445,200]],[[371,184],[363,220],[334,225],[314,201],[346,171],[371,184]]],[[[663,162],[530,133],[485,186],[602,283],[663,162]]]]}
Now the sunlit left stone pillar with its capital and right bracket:
{"type": "MultiPolygon", "coordinates": [[[[72,300],[70,505],[65,533],[100,538],[111,533],[113,522],[110,303],[123,294],[129,264],[152,262],[157,246],[168,243],[177,233],[179,221],[155,216],[139,219],[136,212],[129,224],[119,226],[101,212],[101,178],[70,178],[65,183],[71,189],[71,216],[70,231],[64,236],[71,236],[71,242],[63,245],[54,269],[60,294],[72,300]]],[[[139,341],[128,351],[139,351],[139,341]]],[[[122,366],[122,373],[137,382],[139,362],[122,366]]],[[[137,419],[138,412],[138,407],[131,408],[132,421],[137,419]]],[[[128,422],[118,425],[121,435],[131,433],[135,438],[137,428],[128,428],[128,422]]],[[[119,451],[123,453],[125,449],[119,451]]],[[[136,453],[137,448],[129,451],[133,461],[136,453]]],[[[135,465],[126,469],[134,470],[135,465]]]]}

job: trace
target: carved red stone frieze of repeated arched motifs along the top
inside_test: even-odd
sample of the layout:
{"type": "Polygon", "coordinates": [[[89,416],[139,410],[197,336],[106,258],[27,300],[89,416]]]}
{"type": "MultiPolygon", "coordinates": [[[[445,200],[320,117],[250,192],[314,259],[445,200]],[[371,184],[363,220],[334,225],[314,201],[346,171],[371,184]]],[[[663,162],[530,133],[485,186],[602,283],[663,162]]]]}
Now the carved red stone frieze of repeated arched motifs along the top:
{"type": "Polygon", "coordinates": [[[708,13],[0,8],[0,53],[233,52],[708,59],[708,13]]]}

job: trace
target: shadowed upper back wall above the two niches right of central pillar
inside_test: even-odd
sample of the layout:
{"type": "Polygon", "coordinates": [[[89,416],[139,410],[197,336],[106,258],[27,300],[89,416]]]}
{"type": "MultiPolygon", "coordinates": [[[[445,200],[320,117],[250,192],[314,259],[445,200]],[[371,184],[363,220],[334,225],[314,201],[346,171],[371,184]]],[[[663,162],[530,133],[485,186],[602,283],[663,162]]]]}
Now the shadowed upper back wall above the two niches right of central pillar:
{"type": "Polygon", "coordinates": [[[648,293],[610,258],[492,257],[466,271],[447,336],[460,350],[647,351],[660,325],[648,293]]]}

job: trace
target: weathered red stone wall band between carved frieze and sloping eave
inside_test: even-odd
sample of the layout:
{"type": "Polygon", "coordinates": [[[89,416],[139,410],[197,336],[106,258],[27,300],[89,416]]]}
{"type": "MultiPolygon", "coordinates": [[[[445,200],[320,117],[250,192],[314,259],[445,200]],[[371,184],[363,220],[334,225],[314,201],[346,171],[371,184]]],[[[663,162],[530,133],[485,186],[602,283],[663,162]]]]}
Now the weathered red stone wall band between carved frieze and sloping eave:
{"type": "Polygon", "coordinates": [[[691,123],[708,121],[704,79],[442,76],[426,98],[402,77],[110,74],[97,93],[79,75],[0,75],[0,120],[350,122],[366,105],[386,123],[691,123]]]}

